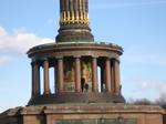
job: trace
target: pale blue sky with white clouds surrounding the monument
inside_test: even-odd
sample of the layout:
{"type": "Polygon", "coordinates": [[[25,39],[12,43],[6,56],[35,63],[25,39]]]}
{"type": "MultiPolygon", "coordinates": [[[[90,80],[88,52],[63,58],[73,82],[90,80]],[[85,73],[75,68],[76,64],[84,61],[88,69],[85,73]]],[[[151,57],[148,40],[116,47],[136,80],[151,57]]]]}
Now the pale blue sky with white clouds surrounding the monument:
{"type": "MultiPolygon", "coordinates": [[[[90,0],[96,41],[124,48],[121,79],[126,99],[166,93],[166,0],[90,0]]],[[[0,1],[0,112],[25,105],[31,66],[25,52],[54,42],[59,0],[0,1]]]]}

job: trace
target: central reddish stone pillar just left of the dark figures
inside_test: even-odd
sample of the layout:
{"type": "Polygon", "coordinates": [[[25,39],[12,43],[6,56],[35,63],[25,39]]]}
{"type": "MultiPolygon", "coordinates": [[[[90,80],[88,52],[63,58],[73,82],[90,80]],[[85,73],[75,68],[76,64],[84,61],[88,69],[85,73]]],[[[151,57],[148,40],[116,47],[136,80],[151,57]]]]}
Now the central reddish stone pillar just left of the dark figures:
{"type": "Polygon", "coordinates": [[[80,58],[75,59],[75,91],[81,92],[81,62],[80,62],[80,58]]]}

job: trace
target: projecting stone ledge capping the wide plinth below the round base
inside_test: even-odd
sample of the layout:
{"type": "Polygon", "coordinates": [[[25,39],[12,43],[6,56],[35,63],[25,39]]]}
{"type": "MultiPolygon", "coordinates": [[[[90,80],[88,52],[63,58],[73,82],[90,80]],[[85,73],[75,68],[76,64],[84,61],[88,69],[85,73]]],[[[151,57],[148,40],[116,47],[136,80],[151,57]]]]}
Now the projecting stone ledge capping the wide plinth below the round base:
{"type": "Polygon", "coordinates": [[[160,106],[154,105],[128,105],[128,104],[56,104],[27,106],[22,108],[21,114],[89,114],[89,113],[160,113],[165,111],[160,106]]]}

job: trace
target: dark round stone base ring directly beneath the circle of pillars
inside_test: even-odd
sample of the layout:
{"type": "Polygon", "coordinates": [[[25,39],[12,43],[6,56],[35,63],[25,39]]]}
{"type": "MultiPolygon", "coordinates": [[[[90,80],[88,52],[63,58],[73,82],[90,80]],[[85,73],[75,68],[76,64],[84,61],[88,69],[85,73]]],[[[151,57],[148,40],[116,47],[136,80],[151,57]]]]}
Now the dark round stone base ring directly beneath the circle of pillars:
{"type": "Polygon", "coordinates": [[[72,93],[63,92],[31,97],[29,105],[60,104],[60,103],[125,103],[122,95],[111,93],[72,93]]]}

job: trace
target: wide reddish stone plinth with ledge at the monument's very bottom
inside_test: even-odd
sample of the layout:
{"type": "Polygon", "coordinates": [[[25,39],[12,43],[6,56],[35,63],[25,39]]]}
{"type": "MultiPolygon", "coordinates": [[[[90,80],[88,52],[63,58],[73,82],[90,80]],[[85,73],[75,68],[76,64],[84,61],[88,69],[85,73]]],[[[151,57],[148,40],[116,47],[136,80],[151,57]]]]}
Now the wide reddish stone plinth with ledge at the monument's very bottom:
{"type": "Polygon", "coordinates": [[[163,114],[151,105],[56,104],[9,110],[0,115],[0,124],[163,124],[163,114]]]}

